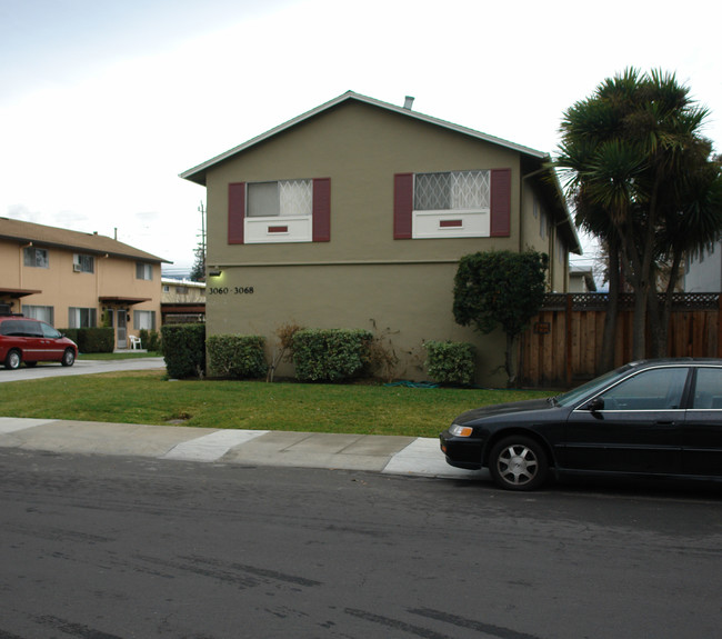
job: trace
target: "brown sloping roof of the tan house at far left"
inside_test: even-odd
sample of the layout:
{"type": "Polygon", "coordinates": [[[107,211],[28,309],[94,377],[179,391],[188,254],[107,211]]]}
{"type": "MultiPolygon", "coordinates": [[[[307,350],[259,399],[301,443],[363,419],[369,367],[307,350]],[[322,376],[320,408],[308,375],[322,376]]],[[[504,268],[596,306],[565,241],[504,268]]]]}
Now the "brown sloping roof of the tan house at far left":
{"type": "Polygon", "coordinates": [[[146,262],[172,263],[169,260],[98,233],[82,233],[9,218],[0,218],[0,239],[32,242],[42,247],[57,247],[87,253],[138,259],[146,262]]]}

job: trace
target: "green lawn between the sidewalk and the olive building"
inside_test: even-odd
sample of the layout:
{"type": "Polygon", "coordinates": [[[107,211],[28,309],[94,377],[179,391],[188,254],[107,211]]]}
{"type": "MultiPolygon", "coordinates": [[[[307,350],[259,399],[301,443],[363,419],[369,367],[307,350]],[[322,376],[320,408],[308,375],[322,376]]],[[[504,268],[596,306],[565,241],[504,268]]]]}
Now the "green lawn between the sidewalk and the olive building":
{"type": "Polygon", "coordinates": [[[163,371],[133,371],[6,382],[0,389],[0,416],[435,437],[464,410],[550,395],[365,385],[168,381],[163,371]]]}

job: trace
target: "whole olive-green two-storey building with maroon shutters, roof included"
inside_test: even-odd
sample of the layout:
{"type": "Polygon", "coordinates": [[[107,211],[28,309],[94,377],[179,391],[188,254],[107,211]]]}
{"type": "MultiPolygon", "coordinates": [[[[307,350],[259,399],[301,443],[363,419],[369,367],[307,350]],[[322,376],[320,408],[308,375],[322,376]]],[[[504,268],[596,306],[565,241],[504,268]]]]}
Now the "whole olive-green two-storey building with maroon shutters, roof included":
{"type": "Polygon", "coordinates": [[[503,382],[503,339],[454,322],[459,259],[532,248],[564,292],[581,252],[545,153],[348,92],[181,174],[207,187],[208,335],[283,325],[385,336],[395,377],[425,340],[478,347],[503,382]]]}

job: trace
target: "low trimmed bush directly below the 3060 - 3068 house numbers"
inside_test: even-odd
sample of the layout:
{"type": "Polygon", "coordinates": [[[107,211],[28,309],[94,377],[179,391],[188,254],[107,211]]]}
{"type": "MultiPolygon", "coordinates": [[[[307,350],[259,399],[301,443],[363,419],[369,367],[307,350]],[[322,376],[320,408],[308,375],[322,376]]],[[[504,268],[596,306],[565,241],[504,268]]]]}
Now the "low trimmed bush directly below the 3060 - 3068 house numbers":
{"type": "Polygon", "coordinates": [[[264,377],[265,339],[260,336],[214,335],[205,342],[210,375],[233,378],[264,377]]]}

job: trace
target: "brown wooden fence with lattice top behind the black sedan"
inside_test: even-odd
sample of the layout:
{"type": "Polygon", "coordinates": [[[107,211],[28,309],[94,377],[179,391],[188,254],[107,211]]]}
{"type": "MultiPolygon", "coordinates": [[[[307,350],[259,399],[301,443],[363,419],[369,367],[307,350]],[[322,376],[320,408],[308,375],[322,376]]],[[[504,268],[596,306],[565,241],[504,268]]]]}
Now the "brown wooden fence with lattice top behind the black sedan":
{"type": "MultiPolygon", "coordinates": [[[[598,375],[606,293],[548,294],[522,335],[520,380],[531,388],[571,388],[598,375]]],[[[634,294],[620,297],[614,365],[632,359],[634,294]]],[[[675,293],[668,333],[670,357],[722,357],[722,294],[675,293]]],[[[648,345],[650,340],[648,339],[648,345]]]]}

